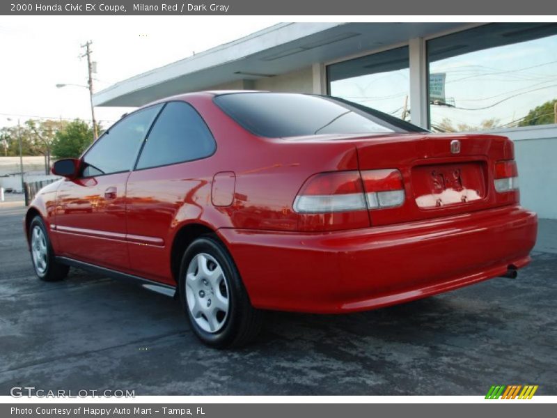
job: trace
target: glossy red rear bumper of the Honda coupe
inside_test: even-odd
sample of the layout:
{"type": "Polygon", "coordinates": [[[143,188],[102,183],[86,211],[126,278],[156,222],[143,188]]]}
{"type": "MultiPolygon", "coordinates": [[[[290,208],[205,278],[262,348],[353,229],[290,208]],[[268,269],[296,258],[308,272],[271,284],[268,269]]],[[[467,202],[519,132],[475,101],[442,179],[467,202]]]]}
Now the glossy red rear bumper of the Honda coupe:
{"type": "Polygon", "coordinates": [[[534,212],[506,206],[329,233],[220,229],[255,307],[375,309],[501,276],[530,261],[534,212]]]}

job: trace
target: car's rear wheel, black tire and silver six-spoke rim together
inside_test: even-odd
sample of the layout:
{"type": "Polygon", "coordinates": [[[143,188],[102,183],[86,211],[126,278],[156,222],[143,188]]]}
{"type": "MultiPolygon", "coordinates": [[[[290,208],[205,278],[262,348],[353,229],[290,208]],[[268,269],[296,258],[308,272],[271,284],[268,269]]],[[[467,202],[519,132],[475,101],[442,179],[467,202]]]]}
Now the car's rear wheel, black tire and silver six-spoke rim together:
{"type": "Polygon", "coordinates": [[[179,286],[191,329],[208,346],[244,346],[260,331],[262,311],[251,306],[232,257],[213,235],[189,245],[179,286]]]}

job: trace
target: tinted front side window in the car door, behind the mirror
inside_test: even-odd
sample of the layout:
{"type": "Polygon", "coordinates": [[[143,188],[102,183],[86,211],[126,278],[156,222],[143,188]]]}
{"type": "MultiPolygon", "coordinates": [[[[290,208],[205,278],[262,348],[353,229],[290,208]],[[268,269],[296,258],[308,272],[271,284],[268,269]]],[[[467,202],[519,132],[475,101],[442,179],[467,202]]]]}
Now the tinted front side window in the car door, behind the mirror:
{"type": "Polygon", "coordinates": [[[136,111],[104,132],[83,158],[83,176],[130,171],[162,104],[136,111]]]}

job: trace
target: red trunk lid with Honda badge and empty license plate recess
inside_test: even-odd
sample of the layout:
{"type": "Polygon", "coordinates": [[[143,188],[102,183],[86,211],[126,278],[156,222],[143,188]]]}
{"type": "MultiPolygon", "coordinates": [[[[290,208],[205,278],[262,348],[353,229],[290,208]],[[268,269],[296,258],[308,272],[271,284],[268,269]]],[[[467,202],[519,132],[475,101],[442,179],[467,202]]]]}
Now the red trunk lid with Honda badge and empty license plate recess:
{"type": "Polygon", "coordinates": [[[359,169],[398,169],[405,203],[370,210],[372,225],[464,214],[515,203],[494,190],[494,163],[512,160],[512,141],[488,134],[404,134],[354,139],[359,169]]]}

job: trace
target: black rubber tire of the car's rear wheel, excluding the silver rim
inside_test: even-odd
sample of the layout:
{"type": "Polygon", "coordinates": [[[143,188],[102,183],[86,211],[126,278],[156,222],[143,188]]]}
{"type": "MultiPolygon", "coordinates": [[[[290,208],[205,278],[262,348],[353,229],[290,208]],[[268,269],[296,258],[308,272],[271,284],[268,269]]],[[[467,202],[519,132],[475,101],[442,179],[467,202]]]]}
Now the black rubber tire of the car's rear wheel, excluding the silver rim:
{"type": "MultiPolygon", "coordinates": [[[[195,264],[196,263],[193,263],[192,265],[195,264]]],[[[203,235],[187,247],[180,265],[178,286],[182,307],[191,325],[191,330],[193,330],[198,338],[207,346],[214,348],[239,348],[253,341],[260,332],[264,313],[263,311],[253,308],[251,305],[246,288],[242,283],[240,273],[236,268],[233,258],[228,253],[226,247],[224,247],[214,235],[203,235]],[[226,318],[224,318],[219,325],[221,328],[214,332],[207,332],[207,330],[204,330],[203,327],[196,322],[196,319],[189,309],[186,291],[186,275],[191,261],[193,261],[196,256],[207,254],[212,257],[214,261],[217,261],[218,266],[221,268],[223,272],[220,279],[221,286],[223,286],[222,281],[226,281],[226,293],[228,296],[228,313],[226,314],[226,318]]],[[[213,292],[212,288],[211,292],[213,292]]],[[[193,291],[191,291],[190,298],[193,294],[193,291]]],[[[207,297],[211,297],[209,293],[207,293],[207,297]]],[[[212,297],[216,300],[217,296],[212,293],[212,297]]],[[[208,300],[208,302],[211,301],[208,300]]],[[[207,305],[207,307],[209,306],[210,305],[207,305]]]]}

